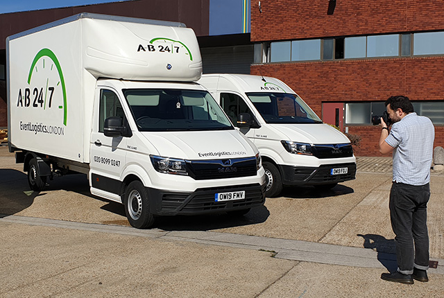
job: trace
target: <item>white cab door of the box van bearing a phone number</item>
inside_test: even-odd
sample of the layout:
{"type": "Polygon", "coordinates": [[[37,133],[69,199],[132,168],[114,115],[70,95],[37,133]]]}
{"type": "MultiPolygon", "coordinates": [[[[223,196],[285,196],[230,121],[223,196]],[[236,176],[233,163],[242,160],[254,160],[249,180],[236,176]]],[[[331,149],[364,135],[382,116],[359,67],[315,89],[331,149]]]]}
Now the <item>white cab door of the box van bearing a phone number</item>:
{"type": "Polygon", "coordinates": [[[96,89],[94,117],[90,139],[91,159],[89,184],[92,193],[108,194],[108,198],[120,202],[119,189],[121,173],[126,164],[127,137],[106,137],[104,134],[105,119],[120,117],[126,123],[118,93],[113,89],[96,89]],[[104,193],[105,192],[105,193],[104,193]]]}

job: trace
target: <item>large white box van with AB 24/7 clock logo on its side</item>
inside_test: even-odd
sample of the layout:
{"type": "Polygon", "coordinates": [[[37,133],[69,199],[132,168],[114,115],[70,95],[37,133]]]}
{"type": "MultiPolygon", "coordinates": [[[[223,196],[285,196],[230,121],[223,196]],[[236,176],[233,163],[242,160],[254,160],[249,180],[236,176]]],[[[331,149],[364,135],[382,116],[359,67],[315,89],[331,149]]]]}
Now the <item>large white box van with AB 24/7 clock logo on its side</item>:
{"type": "Polygon", "coordinates": [[[196,84],[193,30],[82,13],[6,40],[9,149],[31,189],[85,173],[133,227],[264,204],[259,152],[196,84]]]}

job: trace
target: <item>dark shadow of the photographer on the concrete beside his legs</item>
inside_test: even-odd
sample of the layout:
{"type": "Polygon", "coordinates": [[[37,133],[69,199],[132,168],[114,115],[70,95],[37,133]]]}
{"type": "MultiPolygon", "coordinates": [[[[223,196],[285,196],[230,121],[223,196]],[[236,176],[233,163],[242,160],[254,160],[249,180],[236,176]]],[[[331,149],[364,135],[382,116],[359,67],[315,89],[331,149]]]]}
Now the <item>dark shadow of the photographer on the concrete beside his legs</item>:
{"type": "Polygon", "coordinates": [[[398,263],[396,262],[395,239],[386,239],[376,234],[357,234],[357,236],[364,238],[365,248],[370,248],[377,252],[377,260],[388,272],[396,271],[398,263]]]}

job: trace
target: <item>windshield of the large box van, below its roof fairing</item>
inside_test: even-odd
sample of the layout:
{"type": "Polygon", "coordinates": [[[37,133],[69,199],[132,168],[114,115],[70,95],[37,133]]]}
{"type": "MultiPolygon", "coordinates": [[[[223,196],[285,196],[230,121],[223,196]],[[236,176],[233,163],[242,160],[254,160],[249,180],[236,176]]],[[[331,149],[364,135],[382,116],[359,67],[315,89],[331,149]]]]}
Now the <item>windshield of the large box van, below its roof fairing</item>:
{"type": "Polygon", "coordinates": [[[214,98],[201,90],[124,89],[131,112],[142,132],[234,130],[214,98]]]}

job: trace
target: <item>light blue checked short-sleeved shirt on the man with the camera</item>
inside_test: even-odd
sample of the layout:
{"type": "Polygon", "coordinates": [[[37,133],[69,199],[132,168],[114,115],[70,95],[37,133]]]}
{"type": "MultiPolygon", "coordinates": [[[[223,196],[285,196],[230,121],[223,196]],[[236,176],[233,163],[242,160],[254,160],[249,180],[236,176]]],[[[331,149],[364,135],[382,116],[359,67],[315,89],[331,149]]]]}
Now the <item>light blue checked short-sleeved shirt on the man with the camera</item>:
{"type": "Polygon", "coordinates": [[[435,128],[425,116],[412,112],[393,123],[386,143],[393,152],[393,181],[410,185],[430,182],[435,128]]]}

